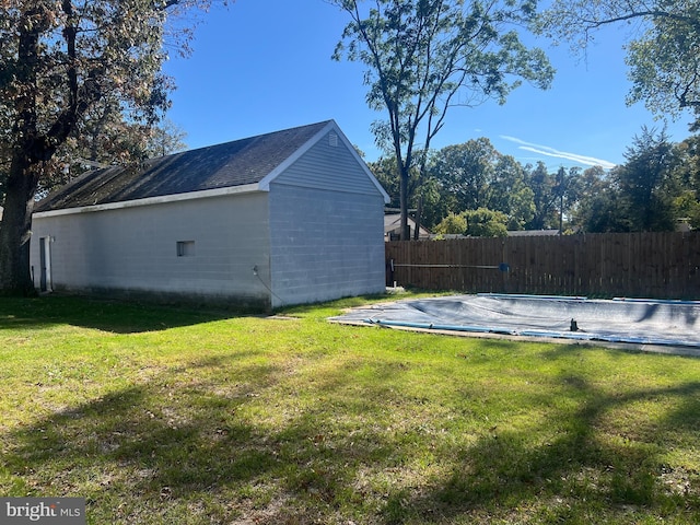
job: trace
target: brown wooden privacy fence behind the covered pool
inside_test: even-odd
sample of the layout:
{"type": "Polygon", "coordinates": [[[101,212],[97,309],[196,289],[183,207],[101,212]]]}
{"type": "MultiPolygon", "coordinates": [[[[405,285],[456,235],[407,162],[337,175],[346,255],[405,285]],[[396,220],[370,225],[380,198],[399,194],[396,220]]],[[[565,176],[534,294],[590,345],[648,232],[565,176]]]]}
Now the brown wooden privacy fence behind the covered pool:
{"type": "Polygon", "coordinates": [[[387,285],[464,292],[700,299],[700,233],[386,243],[387,285]]]}

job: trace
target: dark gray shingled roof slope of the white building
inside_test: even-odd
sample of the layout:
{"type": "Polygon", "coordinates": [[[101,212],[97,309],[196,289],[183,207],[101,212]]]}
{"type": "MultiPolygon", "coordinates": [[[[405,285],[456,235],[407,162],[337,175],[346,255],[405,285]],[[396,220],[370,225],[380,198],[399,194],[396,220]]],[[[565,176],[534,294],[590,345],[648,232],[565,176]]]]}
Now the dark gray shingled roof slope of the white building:
{"type": "Polygon", "coordinates": [[[330,120],[145,161],[141,168],[89,172],[34,211],[106,205],[259,183],[330,120]]]}

